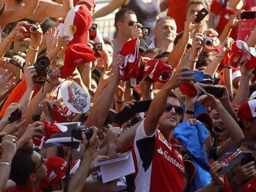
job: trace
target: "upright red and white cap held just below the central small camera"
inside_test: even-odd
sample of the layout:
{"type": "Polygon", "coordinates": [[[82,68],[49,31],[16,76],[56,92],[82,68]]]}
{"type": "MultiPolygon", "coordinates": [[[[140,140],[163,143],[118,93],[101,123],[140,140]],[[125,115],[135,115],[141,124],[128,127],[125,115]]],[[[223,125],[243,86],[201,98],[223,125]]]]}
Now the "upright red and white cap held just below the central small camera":
{"type": "Polygon", "coordinates": [[[119,77],[122,81],[130,78],[140,79],[143,62],[139,52],[139,38],[127,41],[120,52],[124,56],[124,64],[119,65],[119,77]]]}

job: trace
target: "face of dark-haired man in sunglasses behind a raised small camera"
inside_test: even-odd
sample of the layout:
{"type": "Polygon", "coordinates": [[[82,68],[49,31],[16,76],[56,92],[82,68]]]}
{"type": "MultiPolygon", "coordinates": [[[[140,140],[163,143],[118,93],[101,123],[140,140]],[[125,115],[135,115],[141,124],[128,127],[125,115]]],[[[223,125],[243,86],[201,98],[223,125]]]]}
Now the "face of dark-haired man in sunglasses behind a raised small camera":
{"type": "Polygon", "coordinates": [[[124,20],[117,22],[118,33],[130,37],[130,30],[132,30],[134,23],[137,23],[135,14],[124,14],[124,20]]]}

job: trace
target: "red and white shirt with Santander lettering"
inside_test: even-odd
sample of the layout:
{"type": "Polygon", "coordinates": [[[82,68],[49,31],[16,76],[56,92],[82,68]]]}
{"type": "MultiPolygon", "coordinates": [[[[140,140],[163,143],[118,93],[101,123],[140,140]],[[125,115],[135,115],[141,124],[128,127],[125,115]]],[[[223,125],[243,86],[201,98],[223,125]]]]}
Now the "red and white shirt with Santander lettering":
{"type": "Polygon", "coordinates": [[[184,164],[174,141],[169,143],[160,130],[147,136],[143,124],[137,128],[134,140],[135,192],[183,191],[184,164]]]}

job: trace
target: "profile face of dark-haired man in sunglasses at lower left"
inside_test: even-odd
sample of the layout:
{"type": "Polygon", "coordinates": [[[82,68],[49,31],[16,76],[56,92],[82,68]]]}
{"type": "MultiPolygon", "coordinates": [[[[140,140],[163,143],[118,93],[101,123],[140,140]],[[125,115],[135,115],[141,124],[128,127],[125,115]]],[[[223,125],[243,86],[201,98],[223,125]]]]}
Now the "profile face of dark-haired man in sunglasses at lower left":
{"type": "Polygon", "coordinates": [[[32,159],[34,162],[36,162],[36,180],[40,181],[43,178],[47,177],[47,170],[46,170],[46,159],[43,159],[43,157],[38,152],[33,152],[32,159]]]}

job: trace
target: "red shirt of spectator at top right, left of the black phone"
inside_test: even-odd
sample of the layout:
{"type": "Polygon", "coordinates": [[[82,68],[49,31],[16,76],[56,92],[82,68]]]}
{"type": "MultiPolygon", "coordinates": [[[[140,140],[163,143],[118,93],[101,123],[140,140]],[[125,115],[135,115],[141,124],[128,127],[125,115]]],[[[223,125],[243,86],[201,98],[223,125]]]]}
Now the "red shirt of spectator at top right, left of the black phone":
{"type": "MultiPolygon", "coordinates": [[[[216,15],[215,21],[217,23],[216,30],[219,35],[224,30],[224,27],[228,23],[231,15],[235,13],[233,9],[229,7],[229,0],[213,0],[211,2],[211,12],[216,15]]],[[[231,37],[236,40],[237,38],[237,27],[234,27],[231,31],[231,37]]]]}

